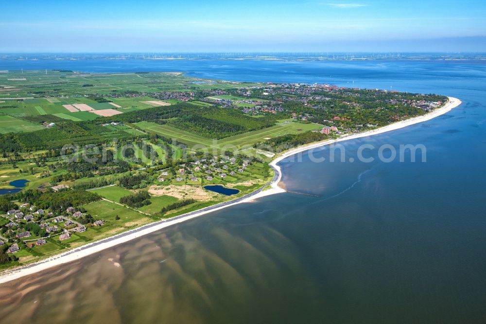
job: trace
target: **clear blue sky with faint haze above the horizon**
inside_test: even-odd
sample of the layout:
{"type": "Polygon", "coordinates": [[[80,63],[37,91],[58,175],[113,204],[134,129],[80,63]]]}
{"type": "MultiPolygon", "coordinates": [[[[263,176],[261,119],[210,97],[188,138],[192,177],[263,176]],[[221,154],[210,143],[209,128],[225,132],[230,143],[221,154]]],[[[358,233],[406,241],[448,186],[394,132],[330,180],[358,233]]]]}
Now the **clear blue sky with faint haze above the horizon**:
{"type": "Polygon", "coordinates": [[[483,0],[2,2],[0,52],[486,51],[483,0]]]}

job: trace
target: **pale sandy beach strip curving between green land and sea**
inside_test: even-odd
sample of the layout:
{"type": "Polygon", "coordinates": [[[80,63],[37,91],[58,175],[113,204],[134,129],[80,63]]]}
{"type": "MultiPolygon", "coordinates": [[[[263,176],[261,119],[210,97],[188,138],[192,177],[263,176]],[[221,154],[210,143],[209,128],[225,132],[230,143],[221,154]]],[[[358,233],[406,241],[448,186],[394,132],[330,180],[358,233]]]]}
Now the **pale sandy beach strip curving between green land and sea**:
{"type": "Polygon", "coordinates": [[[26,275],[34,274],[36,272],[42,271],[42,270],[47,270],[55,266],[59,266],[65,263],[69,263],[71,261],[81,259],[85,256],[88,256],[90,254],[94,254],[96,252],[103,251],[107,248],[114,247],[116,245],[119,245],[121,243],[128,242],[130,240],[133,240],[135,238],[138,238],[140,236],[150,234],[153,232],[156,232],[158,230],[161,230],[163,228],[182,223],[184,221],[190,220],[192,218],[202,216],[217,210],[221,210],[223,208],[233,206],[236,204],[240,204],[243,202],[250,202],[255,199],[269,196],[269,195],[274,195],[278,193],[283,193],[286,192],[284,189],[280,188],[278,186],[278,183],[280,182],[282,178],[282,172],[280,167],[277,165],[278,162],[282,161],[283,159],[292,156],[294,154],[307,151],[316,147],[321,147],[324,145],[329,145],[337,142],[343,142],[347,140],[352,140],[352,139],[357,139],[357,138],[362,138],[362,137],[367,137],[371,135],[376,135],[376,134],[382,134],[384,132],[396,130],[399,128],[403,128],[406,126],[414,125],[417,123],[421,123],[427,120],[431,120],[437,116],[440,116],[442,114],[445,114],[446,112],[451,111],[452,108],[455,108],[459,106],[462,102],[453,97],[448,97],[449,101],[441,108],[437,108],[433,110],[432,112],[429,112],[425,115],[422,116],[417,116],[411,119],[407,119],[404,121],[396,122],[387,126],[383,126],[377,129],[365,131],[362,133],[357,133],[353,135],[345,135],[343,137],[340,137],[335,140],[326,140],[322,142],[317,142],[317,143],[312,143],[312,144],[306,144],[300,147],[296,147],[295,149],[291,149],[289,151],[286,151],[279,155],[277,158],[272,160],[272,162],[269,163],[269,165],[274,169],[275,175],[274,178],[270,183],[265,184],[263,187],[260,187],[258,190],[254,191],[253,193],[250,193],[248,195],[245,195],[240,198],[236,198],[234,200],[230,200],[227,202],[219,203],[213,206],[209,206],[197,211],[193,211],[187,214],[183,214],[180,216],[175,216],[173,218],[169,218],[167,220],[161,220],[157,221],[155,223],[147,224],[144,226],[141,226],[139,228],[129,230],[127,232],[121,233],[114,235],[112,237],[108,237],[96,242],[88,243],[87,245],[81,246],[79,248],[69,250],[67,252],[60,253],[56,256],[52,256],[50,258],[40,260],[37,262],[34,262],[29,265],[25,266],[20,266],[17,269],[13,270],[5,270],[3,274],[0,275],[0,284],[19,279],[21,277],[24,277],[26,275]],[[263,190],[265,187],[270,186],[270,189],[263,190]]]}

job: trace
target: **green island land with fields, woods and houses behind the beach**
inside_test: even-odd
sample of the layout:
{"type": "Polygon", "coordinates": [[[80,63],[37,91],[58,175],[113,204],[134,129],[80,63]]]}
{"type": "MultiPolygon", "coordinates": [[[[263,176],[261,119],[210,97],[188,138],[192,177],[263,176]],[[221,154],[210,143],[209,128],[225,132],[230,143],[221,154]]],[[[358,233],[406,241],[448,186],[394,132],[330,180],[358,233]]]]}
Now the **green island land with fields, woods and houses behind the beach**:
{"type": "Polygon", "coordinates": [[[292,147],[424,115],[434,94],[181,73],[0,73],[0,270],[267,184],[292,147]]]}

